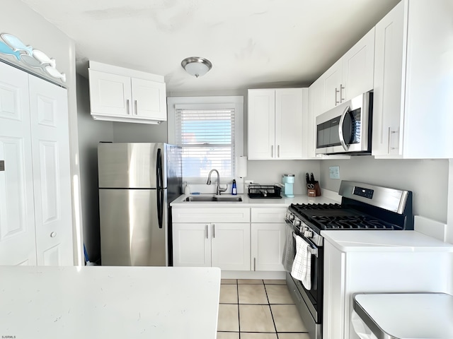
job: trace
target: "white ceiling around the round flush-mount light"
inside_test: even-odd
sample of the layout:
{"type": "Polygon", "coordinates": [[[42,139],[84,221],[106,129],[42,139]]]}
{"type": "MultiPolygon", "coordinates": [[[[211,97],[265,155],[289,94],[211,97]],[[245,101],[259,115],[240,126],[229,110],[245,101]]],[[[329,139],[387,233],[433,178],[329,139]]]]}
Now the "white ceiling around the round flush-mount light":
{"type": "Polygon", "coordinates": [[[88,60],[165,76],[170,92],[309,85],[399,0],[22,0],[88,60]],[[195,78],[180,66],[205,57],[195,78]]]}

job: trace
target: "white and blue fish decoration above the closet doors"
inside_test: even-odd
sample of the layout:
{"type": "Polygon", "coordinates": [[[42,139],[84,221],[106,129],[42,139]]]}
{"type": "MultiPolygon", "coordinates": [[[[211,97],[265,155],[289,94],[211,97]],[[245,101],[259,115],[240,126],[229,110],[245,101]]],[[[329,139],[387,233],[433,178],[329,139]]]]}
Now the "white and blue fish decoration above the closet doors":
{"type": "Polygon", "coordinates": [[[38,69],[46,77],[56,78],[62,83],[66,83],[66,74],[57,70],[57,61],[47,56],[39,49],[33,49],[32,46],[25,45],[18,37],[8,34],[0,34],[0,54],[10,57],[8,59],[13,64],[28,66],[32,69],[38,69]]]}

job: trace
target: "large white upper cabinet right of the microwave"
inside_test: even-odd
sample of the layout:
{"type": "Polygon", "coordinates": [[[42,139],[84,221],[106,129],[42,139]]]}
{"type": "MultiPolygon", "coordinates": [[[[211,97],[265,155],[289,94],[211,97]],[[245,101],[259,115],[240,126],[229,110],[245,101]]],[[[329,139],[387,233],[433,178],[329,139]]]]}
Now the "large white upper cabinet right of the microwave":
{"type": "Polygon", "coordinates": [[[372,154],[453,157],[452,1],[401,1],[376,26],[372,154]]]}

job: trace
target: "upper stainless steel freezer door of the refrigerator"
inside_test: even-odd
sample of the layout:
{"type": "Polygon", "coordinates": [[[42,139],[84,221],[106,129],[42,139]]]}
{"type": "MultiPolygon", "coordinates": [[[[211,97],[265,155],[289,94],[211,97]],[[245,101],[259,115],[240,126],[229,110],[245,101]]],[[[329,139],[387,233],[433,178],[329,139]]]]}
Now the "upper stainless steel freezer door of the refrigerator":
{"type": "Polygon", "coordinates": [[[165,143],[100,143],[98,145],[99,188],[155,189],[162,174],[167,187],[165,143]],[[159,151],[160,150],[160,151],[159,151]],[[161,158],[161,169],[157,162],[161,158]]]}

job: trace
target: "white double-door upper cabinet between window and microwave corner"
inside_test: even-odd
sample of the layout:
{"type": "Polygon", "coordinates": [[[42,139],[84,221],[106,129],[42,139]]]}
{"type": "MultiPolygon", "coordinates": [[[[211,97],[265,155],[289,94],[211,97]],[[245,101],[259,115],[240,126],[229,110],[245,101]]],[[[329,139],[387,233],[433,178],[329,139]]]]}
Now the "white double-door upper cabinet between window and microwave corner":
{"type": "Polygon", "coordinates": [[[306,88],[248,90],[248,159],[306,157],[306,88]]]}

